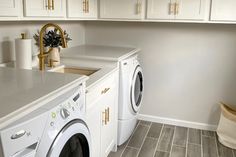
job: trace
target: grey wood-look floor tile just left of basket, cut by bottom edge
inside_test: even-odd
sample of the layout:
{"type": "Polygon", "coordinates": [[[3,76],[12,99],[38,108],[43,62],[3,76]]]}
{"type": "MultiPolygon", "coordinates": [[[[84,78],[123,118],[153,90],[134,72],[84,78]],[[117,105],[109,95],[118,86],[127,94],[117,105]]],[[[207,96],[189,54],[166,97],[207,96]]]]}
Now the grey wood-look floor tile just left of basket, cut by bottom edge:
{"type": "Polygon", "coordinates": [[[203,136],[202,137],[203,157],[217,157],[215,138],[203,136]]]}

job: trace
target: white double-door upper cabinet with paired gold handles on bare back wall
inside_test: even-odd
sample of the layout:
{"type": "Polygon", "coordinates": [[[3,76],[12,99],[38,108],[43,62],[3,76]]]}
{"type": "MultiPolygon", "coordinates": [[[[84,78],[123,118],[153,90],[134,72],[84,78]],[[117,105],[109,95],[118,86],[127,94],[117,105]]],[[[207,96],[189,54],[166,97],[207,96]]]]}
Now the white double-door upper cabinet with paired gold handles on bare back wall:
{"type": "Polygon", "coordinates": [[[203,20],[206,0],[148,0],[148,19],[203,20]]]}

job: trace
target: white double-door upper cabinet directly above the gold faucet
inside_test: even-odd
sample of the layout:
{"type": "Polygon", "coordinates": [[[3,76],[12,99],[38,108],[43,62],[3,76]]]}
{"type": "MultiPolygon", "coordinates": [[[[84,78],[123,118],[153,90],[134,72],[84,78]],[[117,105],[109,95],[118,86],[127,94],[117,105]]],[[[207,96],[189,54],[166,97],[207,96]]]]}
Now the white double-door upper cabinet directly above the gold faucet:
{"type": "Polygon", "coordinates": [[[64,17],[65,0],[24,0],[26,17],[64,17]]]}

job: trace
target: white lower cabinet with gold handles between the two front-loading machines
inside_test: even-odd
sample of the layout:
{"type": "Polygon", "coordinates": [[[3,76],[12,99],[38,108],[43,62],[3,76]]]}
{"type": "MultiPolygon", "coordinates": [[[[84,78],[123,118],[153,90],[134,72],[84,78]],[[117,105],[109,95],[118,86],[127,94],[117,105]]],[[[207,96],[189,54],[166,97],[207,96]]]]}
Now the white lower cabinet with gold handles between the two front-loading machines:
{"type": "Polygon", "coordinates": [[[117,144],[118,71],[89,89],[86,97],[92,157],[106,157],[117,144]]]}

